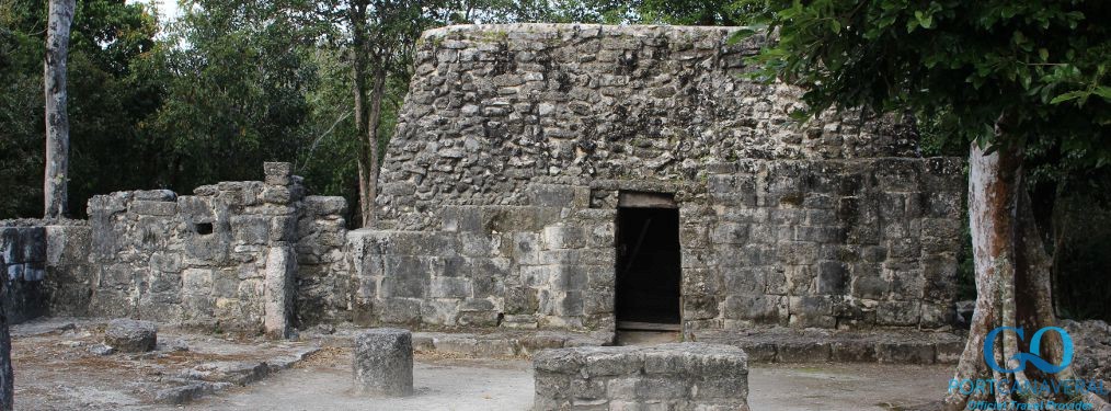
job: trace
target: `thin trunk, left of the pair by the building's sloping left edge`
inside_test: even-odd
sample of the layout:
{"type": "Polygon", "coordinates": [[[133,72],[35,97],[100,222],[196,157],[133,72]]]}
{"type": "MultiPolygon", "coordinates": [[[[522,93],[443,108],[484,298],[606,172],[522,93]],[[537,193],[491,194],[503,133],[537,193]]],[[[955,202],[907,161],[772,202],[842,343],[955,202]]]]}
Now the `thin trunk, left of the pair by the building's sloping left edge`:
{"type": "MultiPolygon", "coordinates": [[[[351,76],[354,83],[354,129],[359,164],[359,217],[361,227],[370,225],[373,215],[374,197],[371,193],[370,178],[372,164],[370,149],[367,147],[367,1],[356,0],[350,4],[348,17],[351,22],[351,76]]],[[[377,148],[376,148],[377,149],[377,148]]]]}

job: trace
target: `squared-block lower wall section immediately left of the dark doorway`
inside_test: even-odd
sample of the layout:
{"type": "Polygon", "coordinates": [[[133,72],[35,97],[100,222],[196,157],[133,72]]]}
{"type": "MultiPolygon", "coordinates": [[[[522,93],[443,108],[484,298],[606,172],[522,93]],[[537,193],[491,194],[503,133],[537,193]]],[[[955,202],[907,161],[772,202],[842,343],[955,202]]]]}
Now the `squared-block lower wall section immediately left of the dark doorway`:
{"type": "MultiPolygon", "coordinates": [[[[544,196],[589,189],[554,186],[544,196]]],[[[453,206],[438,230],[350,234],[369,321],[521,329],[613,328],[613,210],[453,206]]]]}

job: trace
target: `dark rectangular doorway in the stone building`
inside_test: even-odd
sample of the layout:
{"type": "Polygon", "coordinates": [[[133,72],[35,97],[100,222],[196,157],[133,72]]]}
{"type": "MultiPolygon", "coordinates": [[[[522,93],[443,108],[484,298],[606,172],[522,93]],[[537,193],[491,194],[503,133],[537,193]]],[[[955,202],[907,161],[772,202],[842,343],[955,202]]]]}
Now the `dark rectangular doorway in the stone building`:
{"type": "Polygon", "coordinates": [[[682,274],[679,210],[673,206],[643,207],[647,204],[664,206],[667,202],[634,201],[629,202],[632,207],[618,208],[618,328],[678,329],[674,325],[680,322],[682,274]]]}

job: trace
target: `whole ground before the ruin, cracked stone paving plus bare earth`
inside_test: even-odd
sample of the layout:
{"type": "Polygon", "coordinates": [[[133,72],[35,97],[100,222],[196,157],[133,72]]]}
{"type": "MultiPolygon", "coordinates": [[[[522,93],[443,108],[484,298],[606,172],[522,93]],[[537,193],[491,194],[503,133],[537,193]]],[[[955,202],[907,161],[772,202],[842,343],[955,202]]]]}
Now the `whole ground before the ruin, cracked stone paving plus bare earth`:
{"type": "MultiPolygon", "coordinates": [[[[89,348],[99,343],[102,327],[53,321],[17,328],[17,410],[528,410],[532,404],[528,360],[418,353],[414,395],[366,399],[351,391],[347,348],[318,351],[319,341],[170,331],[160,333],[156,352],[97,355],[89,348]],[[308,350],[312,354],[304,357],[308,350]],[[276,367],[282,362],[292,365],[276,367]],[[198,383],[219,389],[184,405],[156,403],[159,393],[198,383]]],[[[941,395],[951,372],[949,365],[753,364],[749,403],[752,410],[783,411],[931,409],[923,404],[941,395]]]]}

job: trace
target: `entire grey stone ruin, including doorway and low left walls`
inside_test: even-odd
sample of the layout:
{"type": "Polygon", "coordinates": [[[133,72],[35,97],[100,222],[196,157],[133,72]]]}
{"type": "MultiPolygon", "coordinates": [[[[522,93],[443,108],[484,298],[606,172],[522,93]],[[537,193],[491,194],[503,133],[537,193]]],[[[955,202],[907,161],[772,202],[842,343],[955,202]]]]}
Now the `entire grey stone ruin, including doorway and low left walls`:
{"type": "Polygon", "coordinates": [[[320,323],[702,332],[952,321],[962,163],[859,112],[797,123],[723,28],[424,33],[377,222],[263,181],[116,192],[7,222],[18,320],[132,317],[287,335],[320,323]]]}

